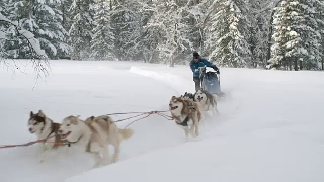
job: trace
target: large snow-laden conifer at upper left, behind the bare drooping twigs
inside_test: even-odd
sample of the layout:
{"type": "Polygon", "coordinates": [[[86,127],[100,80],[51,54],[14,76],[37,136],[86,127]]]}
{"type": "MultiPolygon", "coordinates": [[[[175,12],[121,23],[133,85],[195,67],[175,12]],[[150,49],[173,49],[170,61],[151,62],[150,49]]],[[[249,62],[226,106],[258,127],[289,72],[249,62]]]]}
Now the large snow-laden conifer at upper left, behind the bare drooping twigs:
{"type": "MultiPolygon", "coordinates": [[[[66,30],[61,24],[62,12],[57,9],[60,0],[23,2],[20,28],[32,32],[50,59],[58,59],[68,52],[64,43],[66,30]]],[[[22,55],[21,55],[22,56],[22,55]]]]}

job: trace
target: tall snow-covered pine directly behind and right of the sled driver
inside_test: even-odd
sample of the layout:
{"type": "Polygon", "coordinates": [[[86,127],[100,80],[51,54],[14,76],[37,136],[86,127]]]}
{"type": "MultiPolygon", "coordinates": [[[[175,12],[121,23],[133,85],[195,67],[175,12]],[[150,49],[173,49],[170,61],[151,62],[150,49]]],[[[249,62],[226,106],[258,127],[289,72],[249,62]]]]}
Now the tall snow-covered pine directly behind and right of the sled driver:
{"type": "MultiPolygon", "coordinates": [[[[215,0],[213,6],[221,7],[211,15],[213,22],[207,31],[206,41],[211,54],[209,59],[221,67],[250,67],[250,47],[247,42],[247,4],[244,0],[215,0]]],[[[212,8],[212,7],[211,7],[212,8]]]]}

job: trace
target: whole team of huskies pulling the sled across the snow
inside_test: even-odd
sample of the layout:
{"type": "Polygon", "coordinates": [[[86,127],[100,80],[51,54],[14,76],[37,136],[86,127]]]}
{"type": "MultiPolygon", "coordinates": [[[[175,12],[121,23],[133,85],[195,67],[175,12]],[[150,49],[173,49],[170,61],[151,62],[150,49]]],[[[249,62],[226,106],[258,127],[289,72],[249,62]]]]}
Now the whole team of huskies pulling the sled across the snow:
{"type": "MultiPolygon", "coordinates": [[[[213,116],[218,113],[217,95],[204,90],[197,90],[194,94],[185,93],[180,97],[172,96],[169,102],[169,111],[176,124],[188,135],[199,135],[199,123],[205,111],[212,111],[213,116]],[[191,127],[190,127],[191,126],[191,127]]],[[[120,129],[110,116],[91,116],[85,120],[80,115],[70,115],[62,123],[54,122],[43,110],[38,113],[30,112],[28,120],[29,132],[37,135],[39,162],[43,162],[51,152],[57,152],[60,147],[78,146],[82,151],[93,156],[94,168],[109,164],[108,145],[114,147],[112,162],[119,159],[120,143],[131,138],[133,129],[120,129]]]]}

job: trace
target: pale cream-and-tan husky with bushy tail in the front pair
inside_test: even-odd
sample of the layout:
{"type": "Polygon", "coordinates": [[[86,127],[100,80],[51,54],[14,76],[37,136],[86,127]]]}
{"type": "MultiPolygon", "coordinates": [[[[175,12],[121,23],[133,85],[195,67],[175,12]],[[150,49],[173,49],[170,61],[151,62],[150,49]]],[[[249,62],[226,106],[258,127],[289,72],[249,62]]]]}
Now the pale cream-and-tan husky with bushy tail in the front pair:
{"type": "Polygon", "coordinates": [[[85,152],[92,154],[95,160],[94,168],[100,164],[108,164],[109,144],[114,146],[113,162],[117,162],[121,141],[131,138],[134,131],[118,128],[109,116],[91,116],[85,121],[79,117],[80,115],[70,115],[63,119],[59,128],[62,139],[66,139],[72,145],[81,146],[85,152]]]}

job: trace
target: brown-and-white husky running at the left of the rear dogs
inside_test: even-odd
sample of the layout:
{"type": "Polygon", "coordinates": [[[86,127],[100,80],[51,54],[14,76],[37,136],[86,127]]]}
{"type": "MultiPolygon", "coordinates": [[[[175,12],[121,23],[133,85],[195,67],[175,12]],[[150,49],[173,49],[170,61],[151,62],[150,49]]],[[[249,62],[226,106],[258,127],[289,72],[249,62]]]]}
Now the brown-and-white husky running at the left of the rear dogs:
{"type": "Polygon", "coordinates": [[[169,102],[169,111],[176,124],[184,130],[186,139],[188,139],[189,131],[193,137],[199,135],[199,122],[202,115],[200,105],[197,102],[172,96],[169,102]],[[190,129],[189,125],[191,125],[190,129]]]}

